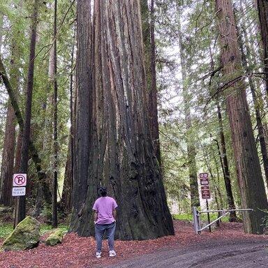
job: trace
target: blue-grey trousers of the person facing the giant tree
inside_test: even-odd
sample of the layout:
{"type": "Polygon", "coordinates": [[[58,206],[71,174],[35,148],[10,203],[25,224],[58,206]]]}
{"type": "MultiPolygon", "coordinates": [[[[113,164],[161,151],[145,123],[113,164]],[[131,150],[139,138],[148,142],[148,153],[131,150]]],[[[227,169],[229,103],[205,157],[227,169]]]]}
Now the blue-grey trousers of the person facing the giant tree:
{"type": "Polygon", "coordinates": [[[97,241],[97,252],[101,252],[101,247],[103,245],[103,234],[106,230],[108,245],[110,251],[114,250],[114,234],[115,234],[115,221],[110,224],[95,224],[95,236],[97,241]]]}

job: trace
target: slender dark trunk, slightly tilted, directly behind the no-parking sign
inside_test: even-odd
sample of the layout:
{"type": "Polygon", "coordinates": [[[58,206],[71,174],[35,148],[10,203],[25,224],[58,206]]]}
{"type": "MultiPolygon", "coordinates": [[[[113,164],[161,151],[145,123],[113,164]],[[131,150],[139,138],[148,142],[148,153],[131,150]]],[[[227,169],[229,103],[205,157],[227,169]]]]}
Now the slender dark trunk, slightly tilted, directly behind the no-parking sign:
{"type": "MultiPolygon", "coordinates": [[[[22,158],[20,160],[20,173],[26,173],[28,170],[28,152],[30,144],[30,131],[31,131],[31,100],[34,87],[34,57],[36,52],[36,27],[38,18],[38,4],[39,0],[34,0],[34,12],[31,25],[31,43],[29,55],[29,70],[27,77],[27,101],[25,109],[24,129],[22,137],[22,158]]],[[[17,200],[15,225],[20,223],[26,215],[26,199],[25,196],[17,200]]]]}

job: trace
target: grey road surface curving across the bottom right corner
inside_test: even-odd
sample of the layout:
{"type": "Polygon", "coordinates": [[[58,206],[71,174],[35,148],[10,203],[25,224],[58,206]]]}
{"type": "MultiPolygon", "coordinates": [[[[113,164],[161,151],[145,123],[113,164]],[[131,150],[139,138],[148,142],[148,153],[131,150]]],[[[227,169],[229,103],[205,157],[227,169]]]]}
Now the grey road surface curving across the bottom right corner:
{"type": "Polygon", "coordinates": [[[216,241],[189,248],[165,249],[119,262],[107,268],[264,268],[268,267],[268,241],[216,241]]]}

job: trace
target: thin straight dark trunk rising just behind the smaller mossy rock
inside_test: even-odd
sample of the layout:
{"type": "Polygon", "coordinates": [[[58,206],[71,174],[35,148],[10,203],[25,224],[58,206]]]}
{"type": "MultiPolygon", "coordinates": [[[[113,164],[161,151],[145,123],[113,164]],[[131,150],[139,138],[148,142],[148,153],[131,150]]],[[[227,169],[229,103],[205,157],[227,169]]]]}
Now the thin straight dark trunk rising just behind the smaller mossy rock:
{"type": "Polygon", "coordinates": [[[53,149],[54,149],[54,177],[52,183],[52,226],[58,225],[57,189],[58,189],[58,85],[57,85],[57,0],[54,1],[54,43],[53,43],[53,84],[54,84],[54,112],[53,112],[53,149]]]}

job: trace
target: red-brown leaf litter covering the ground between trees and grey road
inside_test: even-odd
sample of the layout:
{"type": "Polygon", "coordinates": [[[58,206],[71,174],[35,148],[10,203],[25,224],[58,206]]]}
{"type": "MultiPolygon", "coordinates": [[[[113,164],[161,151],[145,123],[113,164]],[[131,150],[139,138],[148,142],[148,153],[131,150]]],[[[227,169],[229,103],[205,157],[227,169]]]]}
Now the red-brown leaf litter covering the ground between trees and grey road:
{"type": "MultiPolygon", "coordinates": [[[[267,240],[265,235],[244,234],[241,223],[221,223],[220,228],[211,233],[205,231],[198,235],[193,232],[193,225],[185,221],[174,221],[175,235],[147,241],[115,241],[117,256],[108,256],[107,241],[103,243],[102,257],[97,259],[96,243],[93,237],[78,237],[77,234],[66,234],[62,244],[45,246],[43,242],[37,248],[27,251],[8,251],[0,253],[1,268],[43,268],[103,267],[120,262],[137,255],[151,253],[161,248],[184,248],[198,242],[209,242],[216,239],[250,239],[267,240]]],[[[0,241],[2,242],[2,241],[0,241]]]]}

